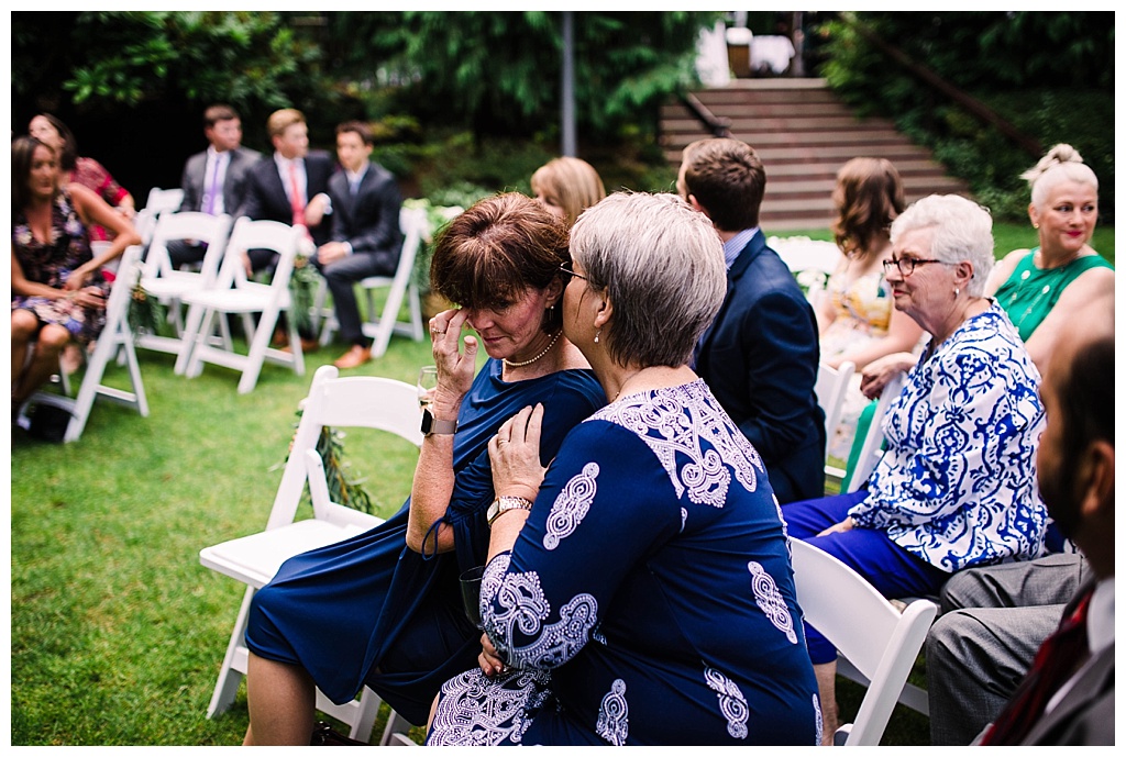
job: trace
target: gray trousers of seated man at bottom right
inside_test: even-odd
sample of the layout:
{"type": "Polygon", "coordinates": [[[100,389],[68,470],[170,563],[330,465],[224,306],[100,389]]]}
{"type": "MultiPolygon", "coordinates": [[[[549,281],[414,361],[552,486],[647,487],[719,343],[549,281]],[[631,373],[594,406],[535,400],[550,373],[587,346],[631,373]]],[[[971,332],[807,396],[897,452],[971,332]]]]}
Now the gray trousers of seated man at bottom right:
{"type": "Polygon", "coordinates": [[[966,746],[993,722],[1088,570],[1064,553],[950,577],[927,636],[931,745],[966,746]]]}

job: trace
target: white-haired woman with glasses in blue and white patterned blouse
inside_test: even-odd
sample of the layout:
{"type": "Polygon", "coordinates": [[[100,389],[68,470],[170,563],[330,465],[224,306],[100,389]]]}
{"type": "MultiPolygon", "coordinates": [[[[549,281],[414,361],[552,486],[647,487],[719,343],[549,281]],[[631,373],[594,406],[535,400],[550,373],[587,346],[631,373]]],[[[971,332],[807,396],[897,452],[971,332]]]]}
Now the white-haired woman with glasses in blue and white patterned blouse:
{"type": "MultiPolygon", "coordinates": [[[[867,484],[783,506],[789,534],[839,558],[887,597],[937,594],[950,574],[1044,548],[1036,493],[1039,373],[1012,322],[984,297],[989,210],[932,195],[892,224],[884,261],[895,307],[930,341],[884,417],[887,451],[867,484]]],[[[826,742],[837,650],[806,628],[826,742]]]]}

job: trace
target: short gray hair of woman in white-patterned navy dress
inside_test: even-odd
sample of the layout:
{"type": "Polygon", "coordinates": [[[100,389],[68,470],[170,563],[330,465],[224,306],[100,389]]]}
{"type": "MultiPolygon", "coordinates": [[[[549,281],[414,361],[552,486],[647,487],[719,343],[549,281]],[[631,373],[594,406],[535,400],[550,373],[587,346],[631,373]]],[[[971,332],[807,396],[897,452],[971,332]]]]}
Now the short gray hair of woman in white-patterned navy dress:
{"type": "Polygon", "coordinates": [[[726,294],[720,235],[671,193],[615,192],[588,208],[571,256],[614,305],[605,340],[620,366],[687,364],[726,294]]]}

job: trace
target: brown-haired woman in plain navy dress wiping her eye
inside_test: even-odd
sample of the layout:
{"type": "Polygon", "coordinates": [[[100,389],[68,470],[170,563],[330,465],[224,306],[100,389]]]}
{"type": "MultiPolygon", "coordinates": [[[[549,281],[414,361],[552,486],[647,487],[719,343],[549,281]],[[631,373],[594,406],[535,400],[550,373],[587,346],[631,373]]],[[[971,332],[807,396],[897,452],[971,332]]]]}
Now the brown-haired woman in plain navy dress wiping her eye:
{"type": "Polygon", "coordinates": [[[366,684],[414,723],[443,681],[473,665],[480,631],[458,575],[484,562],[493,499],[486,444],[520,407],[546,408],[545,460],[605,404],[562,336],[568,232],[530,198],[482,200],[441,233],[434,289],[459,309],[430,322],[438,388],[411,498],[385,523],[286,561],[247,629],[247,744],[307,745],[314,684],[337,703],[366,684]],[[462,327],[476,335],[464,337],[462,327]],[[477,346],[489,360],[474,378],[477,346]]]}

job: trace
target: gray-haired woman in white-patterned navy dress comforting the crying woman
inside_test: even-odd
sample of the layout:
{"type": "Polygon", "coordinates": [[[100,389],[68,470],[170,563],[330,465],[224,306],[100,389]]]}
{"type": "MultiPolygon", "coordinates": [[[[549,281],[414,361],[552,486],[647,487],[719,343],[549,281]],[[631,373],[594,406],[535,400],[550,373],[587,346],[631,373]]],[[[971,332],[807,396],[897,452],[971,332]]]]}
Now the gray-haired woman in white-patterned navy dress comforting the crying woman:
{"type": "Polygon", "coordinates": [[[563,332],[610,404],[546,469],[539,405],[490,441],[480,669],[443,685],[428,744],[813,745],[781,513],[688,367],[725,294],[720,238],[678,197],[616,193],[571,254],[563,332]]]}

